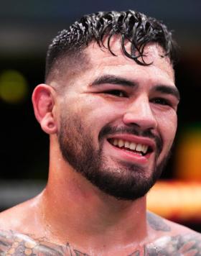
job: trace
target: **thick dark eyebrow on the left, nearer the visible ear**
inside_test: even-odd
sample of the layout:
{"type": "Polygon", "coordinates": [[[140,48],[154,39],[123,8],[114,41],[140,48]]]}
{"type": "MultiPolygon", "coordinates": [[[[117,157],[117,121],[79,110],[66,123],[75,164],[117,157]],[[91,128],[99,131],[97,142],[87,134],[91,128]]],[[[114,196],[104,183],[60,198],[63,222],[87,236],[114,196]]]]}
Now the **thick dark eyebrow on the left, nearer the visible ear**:
{"type": "Polygon", "coordinates": [[[111,75],[101,76],[100,78],[95,79],[95,81],[93,81],[93,83],[91,83],[90,86],[98,86],[103,83],[112,83],[112,84],[117,84],[117,85],[121,85],[121,86],[129,86],[129,87],[136,86],[136,83],[134,83],[130,80],[121,78],[120,76],[111,76],[111,75]]]}

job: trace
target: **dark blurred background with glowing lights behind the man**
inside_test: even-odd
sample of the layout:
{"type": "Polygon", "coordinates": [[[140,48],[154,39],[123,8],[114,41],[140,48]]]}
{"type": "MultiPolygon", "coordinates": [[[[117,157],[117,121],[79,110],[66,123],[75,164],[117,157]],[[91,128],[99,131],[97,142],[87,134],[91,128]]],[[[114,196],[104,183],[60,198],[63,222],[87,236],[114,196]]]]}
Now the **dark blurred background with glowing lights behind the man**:
{"type": "Polygon", "coordinates": [[[34,119],[31,95],[44,82],[47,46],[83,14],[136,9],[164,21],[181,47],[175,67],[179,104],[172,158],[148,196],[149,209],[201,232],[201,1],[1,1],[0,210],[44,188],[48,136],[34,119]]]}

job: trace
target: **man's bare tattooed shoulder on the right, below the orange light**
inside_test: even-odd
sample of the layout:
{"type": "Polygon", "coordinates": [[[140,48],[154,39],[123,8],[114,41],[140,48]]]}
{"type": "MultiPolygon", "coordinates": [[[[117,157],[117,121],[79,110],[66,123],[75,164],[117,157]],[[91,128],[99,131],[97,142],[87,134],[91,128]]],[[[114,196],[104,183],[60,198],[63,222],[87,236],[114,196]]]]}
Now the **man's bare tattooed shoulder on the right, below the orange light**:
{"type": "Polygon", "coordinates": [[[147,221],[158,235],[145,245],[145,255],[201,255],[200,233],[150,212],[147,221]]]}

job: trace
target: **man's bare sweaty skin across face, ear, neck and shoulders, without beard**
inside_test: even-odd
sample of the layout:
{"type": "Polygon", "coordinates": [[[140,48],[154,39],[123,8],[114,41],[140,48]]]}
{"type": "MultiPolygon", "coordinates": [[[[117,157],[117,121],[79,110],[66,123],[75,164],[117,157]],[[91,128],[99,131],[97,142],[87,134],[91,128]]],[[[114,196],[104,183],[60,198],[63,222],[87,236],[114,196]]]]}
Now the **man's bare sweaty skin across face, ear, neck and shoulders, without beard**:
{"type": "Polygon", "coordinates": [[[162,49],[155,44],[145,48],[149,66],[126,58],[118,40],[113,52],[118,57],[92,43],[85,50],[87,68],[78,76],[70,80],[64,72],[50,85],[35,88],[34,113],[50,134],[49,178],[39,196],[0,214],[0,255],[201,255],[200,234],[146,213],[146,195],[134,201],[108,195],[62,155],[57,136],[61,130],[77,160],[90,137],[91,148],[101,148],[99,171],[134,178],[137,184],[150,180],[172,147],[179,99],[169,59],[161,57],[162,49]],[[115,79],[106,82],[106,77],[115,79]],[[82,134],[75,124],[83,127],[82,134]],[[100,132],[108,125],[135,126],[138,134],[118,132],[103,136],[100,143],[100,132]],[[148,129],[160,138],[159,150],[153,137],[142,136],[148,129]],[[128,152],[108,141],[114,137],[143,142],[152,150],[145,156],[128,152]],[[136,164],[139,169],[132,170],[136,164]]]}

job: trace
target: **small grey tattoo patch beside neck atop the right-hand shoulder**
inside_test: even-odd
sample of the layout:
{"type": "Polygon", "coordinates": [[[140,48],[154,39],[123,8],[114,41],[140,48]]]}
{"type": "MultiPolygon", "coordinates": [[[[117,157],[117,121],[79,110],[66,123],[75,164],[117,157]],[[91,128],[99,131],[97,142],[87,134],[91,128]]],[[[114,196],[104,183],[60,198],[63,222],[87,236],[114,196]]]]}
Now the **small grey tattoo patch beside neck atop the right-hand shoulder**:
{"type": "Polygon", "coordinates": [[[146,214],[146,219],[149,222],[150,227],[156,231],[169,232],[171,230],[164,220],[155,214],[148,212],[146,214]]]}

